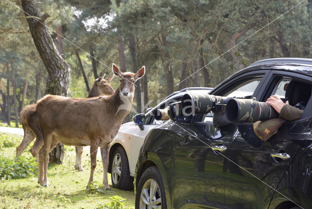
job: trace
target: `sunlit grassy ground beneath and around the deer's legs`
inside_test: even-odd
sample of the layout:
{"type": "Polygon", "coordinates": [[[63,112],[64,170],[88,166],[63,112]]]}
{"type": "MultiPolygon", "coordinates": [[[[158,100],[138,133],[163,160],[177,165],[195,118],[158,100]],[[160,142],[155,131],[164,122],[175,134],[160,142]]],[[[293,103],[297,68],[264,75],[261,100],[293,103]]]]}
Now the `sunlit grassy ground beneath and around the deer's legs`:
{"type": "MultiPolygon", "coordinates": [[[[0,133],[0,139],[22,136],[0,133]]],[[[8,140],[8,139],[7,139],[8,140]]],[[[15,141],[15,140],[14,140],[15,141]]],[[[19,143],[18,143],[19,144],[19,143]]],[[[23,156],[31,157],[29,148],[22,153],[23,156]]],[[[65,146],[65,155],[62,165],[50,164],[48,166],[49,187],[41,187],[37,183],[37,175],[23,179],[0,180],[0,208],[3,209],[94,209],[100,204],[112,205],[112,201],[122,201],[123,208],[134,209],[134,191],[117,190],[112,187],[111,176],[108,173],[111,191],[90,193],[86,185],[90,176],[90,153],[84,148],[82,154],[82,166],[84,171],[74,168],[76,153],[72,147],[65,146]],[[119,197],[117,197],[119,196],[119,197]],[[117,197],[117,198],[116,198],[117,197]]],[[[16,146],[2,147],[0,155],[14,159],[16,146]]],[[[101,183],[103,180],[103,168],[100,153],[97,156],[97,168],[94,173],[94,181],[101,183]]]]}

